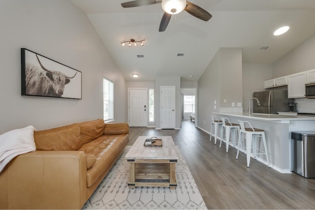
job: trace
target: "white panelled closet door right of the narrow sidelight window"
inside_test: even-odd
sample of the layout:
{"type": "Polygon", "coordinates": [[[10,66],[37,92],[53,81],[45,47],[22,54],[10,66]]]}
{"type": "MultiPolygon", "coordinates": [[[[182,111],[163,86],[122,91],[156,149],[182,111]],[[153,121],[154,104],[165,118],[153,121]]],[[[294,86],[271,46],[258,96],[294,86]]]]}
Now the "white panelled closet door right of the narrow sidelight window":
{"type": "Polygon", "coordinates": [[[175,87],[161,86],[161,128],[175,129],[175,87]]]}

